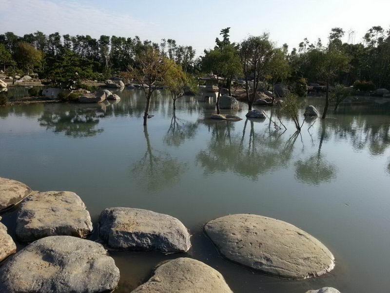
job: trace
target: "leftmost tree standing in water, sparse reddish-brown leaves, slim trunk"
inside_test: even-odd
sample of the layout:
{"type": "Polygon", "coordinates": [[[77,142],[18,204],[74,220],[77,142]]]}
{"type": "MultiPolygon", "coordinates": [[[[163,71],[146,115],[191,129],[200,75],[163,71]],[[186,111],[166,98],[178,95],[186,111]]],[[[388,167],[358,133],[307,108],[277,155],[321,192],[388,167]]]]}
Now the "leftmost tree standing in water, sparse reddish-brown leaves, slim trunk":
{"type": "Polygon", "coordinates": [[[152,94],[156,89],[156,84],[165,81],[166,74],[172,66],[172,63],[151,46],[146,46],[142,52],[137,54],[136,63],[137,67],[130,65],[127,71],[122,73],[122,76],[130,80],[135,79],[142,85],[146,98],[143,125],[146,126],[149,116],[150,101],[152,99],[152,94]]]}

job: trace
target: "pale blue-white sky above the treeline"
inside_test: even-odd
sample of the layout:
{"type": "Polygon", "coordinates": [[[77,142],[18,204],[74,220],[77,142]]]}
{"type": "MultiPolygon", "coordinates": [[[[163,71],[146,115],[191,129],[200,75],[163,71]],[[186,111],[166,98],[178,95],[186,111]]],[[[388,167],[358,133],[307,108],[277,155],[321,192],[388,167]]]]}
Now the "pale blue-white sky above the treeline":
{"type": "Polygon", "coordinates": [[[355,31],[354,42],[374,25],[390,28],[390,0],[0,0],[0,7],[0,34],[175,39],[197,55],[213,48],[225,27],[232,42],[267,32],[290,49],[304,38],[326,43],[332,27],[355,31]]]}

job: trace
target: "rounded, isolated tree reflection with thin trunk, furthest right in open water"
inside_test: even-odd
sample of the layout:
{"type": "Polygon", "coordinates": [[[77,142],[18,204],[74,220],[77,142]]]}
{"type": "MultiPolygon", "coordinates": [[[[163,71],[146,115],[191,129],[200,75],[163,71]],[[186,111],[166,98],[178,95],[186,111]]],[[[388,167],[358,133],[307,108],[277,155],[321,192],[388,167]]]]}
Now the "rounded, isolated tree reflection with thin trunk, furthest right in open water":
{"type": "Polygon", "coordinates": [[[318,152],[306,160],[295,162],[295,178],[303,183],[319,185],[323,182],[330,182],[336,178],[337,167],[326,161],[321,154],[321,147],[326,134],[325,121],[322,122],[321,137],[318,145],[318,152]]]}

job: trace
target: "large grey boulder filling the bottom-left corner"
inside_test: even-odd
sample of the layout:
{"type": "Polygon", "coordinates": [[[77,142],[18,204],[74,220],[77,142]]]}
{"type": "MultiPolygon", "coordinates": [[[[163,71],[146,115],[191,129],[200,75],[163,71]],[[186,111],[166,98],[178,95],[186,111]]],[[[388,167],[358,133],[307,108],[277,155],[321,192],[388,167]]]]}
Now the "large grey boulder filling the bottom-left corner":
{"type": "Polygon", "coordinates": [[[118,281],[101,244],[72,236],[39,239],[0,267],[0,292],[7,293],[103,293],[118,281]]]}

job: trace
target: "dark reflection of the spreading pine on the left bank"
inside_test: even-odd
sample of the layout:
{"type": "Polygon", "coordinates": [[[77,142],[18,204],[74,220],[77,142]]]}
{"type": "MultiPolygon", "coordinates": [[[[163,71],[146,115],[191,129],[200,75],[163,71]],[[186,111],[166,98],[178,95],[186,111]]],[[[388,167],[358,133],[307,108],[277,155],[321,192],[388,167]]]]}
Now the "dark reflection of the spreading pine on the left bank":
{"type": "Polygon", "coordinates": [[[103,132],[102,128],[96,129],[96,126],[105,111],[106,105],[103,103],[46,105],[38,121],[40,126],[54,132],[64,132],[72,137],[88,137],[103,132]]]}

